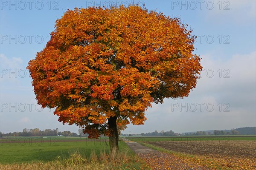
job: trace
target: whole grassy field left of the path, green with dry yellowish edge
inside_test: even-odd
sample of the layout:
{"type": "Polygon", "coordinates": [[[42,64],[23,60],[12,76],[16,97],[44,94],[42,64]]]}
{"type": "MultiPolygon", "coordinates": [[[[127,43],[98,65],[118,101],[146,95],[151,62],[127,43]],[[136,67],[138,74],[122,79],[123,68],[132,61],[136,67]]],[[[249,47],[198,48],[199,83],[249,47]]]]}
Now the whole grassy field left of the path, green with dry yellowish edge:
{"type": "Polygon", "coordinates": [[[1,170],[147,169],[122,141],[120,153],[109,155],[108,138],[6,137],[0,142],[1,170]]]}

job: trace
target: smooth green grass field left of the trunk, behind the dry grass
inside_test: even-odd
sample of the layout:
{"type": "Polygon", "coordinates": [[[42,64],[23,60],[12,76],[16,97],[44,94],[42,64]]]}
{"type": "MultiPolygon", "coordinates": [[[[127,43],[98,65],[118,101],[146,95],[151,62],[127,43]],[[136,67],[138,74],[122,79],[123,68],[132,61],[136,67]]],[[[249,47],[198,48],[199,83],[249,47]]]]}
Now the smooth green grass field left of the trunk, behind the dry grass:
{"type": "MultiPolygon", "coordinates": [[[[1,141],[0,163],[25,163],[32,161],[52,161],[58,156],[68,156],[72,150],[80,150],[84,157],[89,157],[92,150],[99,154],[105,150],[109,152],[105,139],[89,140],[77,137],[12,137],[1,141]],[[81,140],[81,142],[77,142],[81,140]],[[68,141],[68,142],[67,142],[68,141]],[[74,141],[74,142],[72,142],[74,141]]],[[[107,142],[108,144],[108,142],[107,142]]],[[[120,144],[120,148],[125,147],[120,144]]]]}

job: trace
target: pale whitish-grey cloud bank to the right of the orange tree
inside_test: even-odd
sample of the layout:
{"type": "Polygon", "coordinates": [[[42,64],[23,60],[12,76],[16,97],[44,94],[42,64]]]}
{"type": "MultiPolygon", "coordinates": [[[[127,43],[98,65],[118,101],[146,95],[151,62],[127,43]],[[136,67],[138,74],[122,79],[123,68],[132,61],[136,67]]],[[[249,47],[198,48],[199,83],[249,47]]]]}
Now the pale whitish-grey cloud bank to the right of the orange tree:
{"type": "MultiPolygon", "coordinates": [[[[148,119],[145,125],[129,125],[123,133],[154,130],[181,133],[256,126],[256,51],[236,54],[229,59],[211,54],[201,54],[201,57],[203,77],[189,97],[177,101],[166,99],[163,105],[153,105],[146,112],[148,119]],[[210,71],[207,73],[210,69],[214,73],[212,77],[210,71]],[[178,108],[173,109],[174,103],[178,104],[178,108]],[[189,108],[192,103],[197,105],[196,111],[192,111],[194,107],[189,108]],[[202,110],[198,103],[204,103],[202,110]],[[208,103],[214,105],[213,111],[207,111],[208,103]]],[[[208,109],[211,110],[210,105],[208,109]]]]}

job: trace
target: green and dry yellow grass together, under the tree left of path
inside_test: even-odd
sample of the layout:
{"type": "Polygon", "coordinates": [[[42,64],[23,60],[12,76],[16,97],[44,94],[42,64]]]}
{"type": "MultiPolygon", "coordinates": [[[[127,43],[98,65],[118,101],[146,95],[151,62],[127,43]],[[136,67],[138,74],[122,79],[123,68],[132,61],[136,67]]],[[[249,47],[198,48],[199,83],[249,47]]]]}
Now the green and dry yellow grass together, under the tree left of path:
{"type": "Polygon", "coordinates": [[[60,142],[58,146],[1,145],[1,170],[150,170],[125,144],[119,152],[108,153],[109,146],[84,142],[60,142]],[[55,147],[55,148],[54,148],[55,147]],[[3,150],[2,150],[3,148],[3,150]],[[3,152],[2,152],[3,151],[3,152]]]}

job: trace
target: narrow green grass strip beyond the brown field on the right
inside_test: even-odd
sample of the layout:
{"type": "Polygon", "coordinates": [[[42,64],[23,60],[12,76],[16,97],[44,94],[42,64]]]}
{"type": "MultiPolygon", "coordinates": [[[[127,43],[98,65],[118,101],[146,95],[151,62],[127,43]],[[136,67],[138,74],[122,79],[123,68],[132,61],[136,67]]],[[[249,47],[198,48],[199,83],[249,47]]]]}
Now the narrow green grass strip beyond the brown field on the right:
{"type": "Polygon", "coordinates": [[[256,136],[143,136],[143,137],[125,137],[135,142],[146,141],[207,141],[207,140],[256,140],[256,136]]]}

